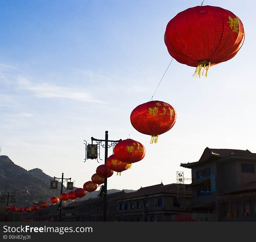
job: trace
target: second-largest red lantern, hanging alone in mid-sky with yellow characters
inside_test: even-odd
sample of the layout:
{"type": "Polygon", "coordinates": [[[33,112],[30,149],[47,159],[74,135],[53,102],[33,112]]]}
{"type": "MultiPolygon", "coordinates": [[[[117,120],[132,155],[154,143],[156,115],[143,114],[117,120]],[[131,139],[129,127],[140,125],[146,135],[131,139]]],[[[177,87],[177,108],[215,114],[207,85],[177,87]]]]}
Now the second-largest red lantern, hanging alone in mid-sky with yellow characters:
{"type": "MultiPolygon", "coordinates": [[[[151,135],[150,144],[157,143],[158,136],[170,130],[176,119],[175,109],[163,101],[150,101],[138,105],[130,115],[131,125],[138,132],[151,135]]],[[[120,159],[117,155],[116,157],[120,159]]],[[[125,160],[120,160],[126,162],[125,160]]]]}

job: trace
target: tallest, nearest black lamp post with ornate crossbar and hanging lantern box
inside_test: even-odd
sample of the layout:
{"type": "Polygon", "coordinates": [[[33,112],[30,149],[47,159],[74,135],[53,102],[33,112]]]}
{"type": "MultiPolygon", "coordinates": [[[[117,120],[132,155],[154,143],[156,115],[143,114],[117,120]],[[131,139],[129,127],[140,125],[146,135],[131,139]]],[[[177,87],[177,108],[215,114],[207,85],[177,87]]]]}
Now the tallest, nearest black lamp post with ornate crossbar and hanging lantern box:
{"type": "MultiPolygon", "coordinates": [[[[104,162],[105,165],[106,165],[106,162],[107,162],[107,159],[108,159],[108,148],[110,148],[111,146],[115,146],[118,142],[122,141],[122,139],[120,139],[120,140],[108,140],[108,131],[105,132],[105,139],[95,139],[93,137],[91,137],[91,139],[92,139],[92,145],[93,145],[93,141],[96,141],[97,144],[101,144],[102,142],[105,142],[104,145],[101,144],[101,146],[105,148],[105,162],[104,162]],[[109,142],[111,142],[110,145],[108,144],[109,142]]],[[[96,156],[97,156],[97,150],[96,150],[96,156]]],[[[93,157],[93,158],[88,157],[88,159],[96,159],[96,157],[93,157]]],[[[103,194],[104,194],[103,221],[106,222],[106,214],[107,214],[107,178],[104,179],[104,192],[103,192],[103,194]]]]}

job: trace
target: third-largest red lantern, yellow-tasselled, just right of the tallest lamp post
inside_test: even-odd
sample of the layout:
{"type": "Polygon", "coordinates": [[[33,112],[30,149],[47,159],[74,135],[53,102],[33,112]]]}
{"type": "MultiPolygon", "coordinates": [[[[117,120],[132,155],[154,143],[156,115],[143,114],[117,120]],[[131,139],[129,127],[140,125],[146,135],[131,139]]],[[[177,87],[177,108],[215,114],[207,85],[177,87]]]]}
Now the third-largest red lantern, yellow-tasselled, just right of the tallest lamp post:
{"type": "Polygon", "coordinates": [[[125,139],[115,145],[114,155],[117,159],[127,163],[128,168],[131,168],[132,163],[144,158],[145,147],[138,141],[125,139]]]}

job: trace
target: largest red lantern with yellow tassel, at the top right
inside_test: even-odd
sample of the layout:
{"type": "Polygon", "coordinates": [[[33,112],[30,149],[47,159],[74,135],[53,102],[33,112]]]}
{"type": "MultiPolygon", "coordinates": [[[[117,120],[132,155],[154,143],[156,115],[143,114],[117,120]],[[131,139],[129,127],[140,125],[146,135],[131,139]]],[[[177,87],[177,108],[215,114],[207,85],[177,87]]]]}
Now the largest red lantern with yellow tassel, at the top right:
{"type": "Polygon", "coordinates": [[[200,77],[205,68],[207,76],[210,65],[233,58],[243,45],[244,36],[241,20],[229,10],[196,6],[169,21],[164,42],[175,60],[197,67],[194,76],[200,77]]]}

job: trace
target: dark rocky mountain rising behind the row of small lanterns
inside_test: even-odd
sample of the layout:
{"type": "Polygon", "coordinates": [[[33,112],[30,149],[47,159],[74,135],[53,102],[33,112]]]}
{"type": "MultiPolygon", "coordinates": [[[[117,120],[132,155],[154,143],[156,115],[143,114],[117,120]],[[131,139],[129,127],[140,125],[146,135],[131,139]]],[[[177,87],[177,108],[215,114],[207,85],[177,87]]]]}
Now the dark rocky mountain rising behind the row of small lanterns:
{"type": "MultiPolygon", "coordinates": [[[[49,202],[52,196],[60,196],[60,189],[50,189],[51,176],[45,174],[41,169],[35,168],[30,171],[25,170],[21,166],[14,164],[6,155],[0,156],[0,192],[2,195],[10,195],[15,197],[16,207],[32,206],[35,202],[42,201],[49,202]]],[[[76,189],[76,188],[74,188],[76,189]]],[[[63,186],[63,192],[66,191],[63,186]]],[[[120,190],[110,189],[108,194],[115,193],[120,190]]],[[[132,192],[134,190],[124,190],[125,192],[132,192]]],[[[67,190],[69,192],[69,190],[67,190]]],[[[87,193],[86,196],[77,200],[86,200],[97,197],[99,191],[87,193]]],[[[7,199],[7,198],[6,198],[7,199]]],[[[7,202],[7,200],[6,200],[7,202]]],[[[72,202],[68,200],[65,204],[72,202]]],[[[10,200],[9,200],[10,203],[10,200]]],[[[0,205],[4,205],[1,204],[0,205]]]]}

